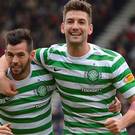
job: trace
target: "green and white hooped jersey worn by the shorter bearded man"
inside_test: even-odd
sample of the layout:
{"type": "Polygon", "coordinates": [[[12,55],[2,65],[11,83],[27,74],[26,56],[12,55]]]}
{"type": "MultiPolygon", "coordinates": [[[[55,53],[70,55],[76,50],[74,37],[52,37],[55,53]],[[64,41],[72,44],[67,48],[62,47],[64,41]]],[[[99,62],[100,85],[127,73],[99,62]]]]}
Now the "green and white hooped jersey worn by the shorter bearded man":
{"type": "Polygon", "coordinates": [[[31,64],[29,76],[14,82],[16,96],[0,95],[0,123],[11,123],[14,135],[52,135],[51,96],[55,89],[52,76],[31,64]]]}

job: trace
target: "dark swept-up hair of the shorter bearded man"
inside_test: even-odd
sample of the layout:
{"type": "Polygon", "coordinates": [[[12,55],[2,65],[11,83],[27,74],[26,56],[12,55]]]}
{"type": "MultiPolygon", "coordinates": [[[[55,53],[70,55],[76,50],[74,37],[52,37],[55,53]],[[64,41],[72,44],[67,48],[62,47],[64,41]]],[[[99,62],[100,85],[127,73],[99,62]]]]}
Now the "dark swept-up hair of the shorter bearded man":
{"type": "Polygon", "coordinates": [[[31,37],[30,30],[25,28],[18,28],[10,30],[5,34],[6,46],[8,44],[15,46],[18,43],[25,41],[27,43],[28,52],[33,50],[33,40],[31,37]]]}

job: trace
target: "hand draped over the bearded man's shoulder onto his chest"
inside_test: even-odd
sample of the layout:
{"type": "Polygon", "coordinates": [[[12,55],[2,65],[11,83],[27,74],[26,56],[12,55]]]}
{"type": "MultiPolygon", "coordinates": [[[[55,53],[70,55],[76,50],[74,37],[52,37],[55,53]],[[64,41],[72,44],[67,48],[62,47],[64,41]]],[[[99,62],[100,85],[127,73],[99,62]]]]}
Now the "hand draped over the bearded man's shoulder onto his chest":
{"type": "Polygon", "coordinates": [[[0,93],[7,96],[14,96],[17,94],[15,84],[5,75],[0,74],[0,93]]]}

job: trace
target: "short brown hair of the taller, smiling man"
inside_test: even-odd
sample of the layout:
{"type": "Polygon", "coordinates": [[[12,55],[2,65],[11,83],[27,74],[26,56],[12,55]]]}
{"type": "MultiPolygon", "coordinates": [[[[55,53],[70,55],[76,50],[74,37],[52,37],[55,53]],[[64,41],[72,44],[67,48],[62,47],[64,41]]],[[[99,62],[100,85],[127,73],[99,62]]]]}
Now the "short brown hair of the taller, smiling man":
{"type": "Polygon", "coordinates": [[[65,19],[67,12],[71,10],[80,10],[86,12],[89,16],[89,22],[92,23],[91,4],[88,3],[86,0],[69,0],[64,6],[63,20],[65,19]]]}

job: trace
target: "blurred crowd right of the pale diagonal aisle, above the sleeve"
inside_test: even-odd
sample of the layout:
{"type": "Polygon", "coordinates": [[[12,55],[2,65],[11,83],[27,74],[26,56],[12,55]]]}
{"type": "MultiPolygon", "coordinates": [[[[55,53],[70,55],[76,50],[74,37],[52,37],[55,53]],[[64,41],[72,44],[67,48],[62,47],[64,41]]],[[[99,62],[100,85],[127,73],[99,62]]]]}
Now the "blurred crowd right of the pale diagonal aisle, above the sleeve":
{"type": "Polygon", "coordinates": [[[135,15],[129,18],[126,28],[111,42],[112,50],[122,54],[135,74],[135,15]]]}

